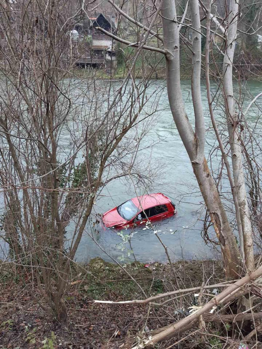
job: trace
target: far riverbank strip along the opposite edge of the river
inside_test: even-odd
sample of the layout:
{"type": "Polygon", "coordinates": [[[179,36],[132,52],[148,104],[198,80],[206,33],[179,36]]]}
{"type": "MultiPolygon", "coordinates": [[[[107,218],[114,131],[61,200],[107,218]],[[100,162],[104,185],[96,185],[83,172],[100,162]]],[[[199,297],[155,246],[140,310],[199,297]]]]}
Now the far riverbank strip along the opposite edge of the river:
{"type": "MultiPolygon", "coordinates": [[[[130,61],[133,58],[133,50],[130,47],[122,46],[121,50],[117,53],[117,65],[116,69],[110,73],[110,66],[107,69],[95,68],[95,76],[99,79],[113,79],[122,80],[126,77],[130,68],[130,61]]],[[[202,52],[204,54],[204,51],[202,52]]],[[[180,78],[181,80],[191,79],[192,75],[192,52],[186,47],[181,47],[180,52],[180,78]]],[[[216,62],[213,62],[213,58],[210,58],[210,80],[220,80],[223,75],[223,55],[216,48],[213,51],[213,55],[216,57],[216,62]],[[222,74],[222,75],[221,75],[222,74]]],[[[262,81],[262,51],[256,49],[254,52],[242,50],[236,50],[234,57],[234,71],[233,78],[241,81],[262,81]],[[247,63],[248,62],[248,63],[247,63]]],[[[68,73],[68,77],[77,76],[80,78],[90,78],[94,76],[93,69],[84,69],[75,67],[68,73]]],[[[162,54],[156,54],[152,57],[148,57],[143,60],[138,57],[136,61],[135,76],[137,79],[165,79],[166,78],[166,64],[162,54]]],[[[205,80],[205,61],[202,60],[202,79],[205,80]]]]}

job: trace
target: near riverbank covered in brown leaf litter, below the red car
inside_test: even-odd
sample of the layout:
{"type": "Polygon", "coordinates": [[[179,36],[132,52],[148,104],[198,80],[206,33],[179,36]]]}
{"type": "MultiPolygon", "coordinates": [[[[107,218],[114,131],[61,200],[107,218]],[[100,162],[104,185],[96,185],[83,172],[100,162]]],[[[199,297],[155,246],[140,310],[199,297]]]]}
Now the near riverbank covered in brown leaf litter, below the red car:
{"type": "MultiPolygon", "coordinates": [[[[65,296],[67,330],[31,299],[21,277],[19,272],[15,275],[8,272],[6,265],[0,268],[0,348],[100,348],[108,341],[150,331],[185,317],[188,308],[197,304],[197,298],[194,292],[188,292],[161,307],[99,304],[94,303],[94,299],[144,299],[138,284],[147,296],[154,296],[175,290],[176,283],[179,288],[198,287],[207,281],[210,285],[216,284],[224,280],[224,273],[221,262],[212,260],[179,261],[172,267],[134,262],[121,268],[100,258],[88,265],[74,264],[65,296]]],[[[29,273],[24,281],[41,299],[36,282],[31,286],[31,277],[29,273]]],[[[159,299],[159,303],[163,300],[166,298],[159,299]]],[[[192,341],[184,341],[183,348],[187,347],[194,347],[192,341]]]]}

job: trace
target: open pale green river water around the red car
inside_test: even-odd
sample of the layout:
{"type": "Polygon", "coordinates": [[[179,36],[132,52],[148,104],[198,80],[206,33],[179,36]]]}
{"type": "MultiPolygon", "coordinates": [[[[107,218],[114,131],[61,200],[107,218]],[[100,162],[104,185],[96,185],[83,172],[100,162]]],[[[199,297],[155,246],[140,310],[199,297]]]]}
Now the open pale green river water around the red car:
{"type": "MultiPolygon", "coordinates": [[[[156,81],[155,84],[164,84],[164,81],[156,81]]],[[[235,88],[237,85],[235,84],[235,88]]],[[[154,90],[154,87],[149,88],[148,95],[154,90]]],[[[256,96],[261,92],[262,84],[259,82],[249,82],[242,90],[246,99],[243,103],[242,109],[250,103],[251,96],[256,96]]],[[[212,85],[212,91],[215,93],[217,86],[212,85]]],[[[194,113],[191,99],[191,81],[182,82],[182,92],[185,102],[185,108],[188,113],[189,120],[194,125],[194,113]]],[[[204,82],[202,83],[202,98],[203,110],[205,115],[205,125],[207,130],[211,130],[211,121],[208,110],[208,103],[206,98],[206,88],[204,82]]],[[[221,95],[220,95],[221,100],[221,95]]],[[[250,127],[255,125],[258,136],[261,135],[261,110],[262,98],[257,100],[258,106],[250,109],[246,119],[248,119],[250,127]]],[[[188,155],[180,140],[179,134],[175,127],[172,114],[169,109],[167,98],[167,91],[164,87],[160,98],[160,105],[162,111],[158,113],[157,120],[154,127],[145,137],[145,144],[148,144],[150,139],[154,145],[150,148],[141,150],[141,152],[150,159],[150,163],[159,165],[160,176],[154,181],[148,193],[162,192],[172,198],[176,204],[177,214],[156,224],[159,230],[159,236],[168,247],[168,252],[172,260],[184,259],[204,259],[214,258],[219,255],[216,249],[206,245],[201,237],[201,230],[203,227],[203,218],[205,217],[205,210],[203,208],[203,199],[199,194],[197,181],[192,172],[192,167],[189,162],[188,155]]],[[[223,114],[223,106],[217,106],[216,116],[219,122],[224,122],[223,117],[219,118],[219,114],[223,114]]],[[[213,146],[216,146],[216,139],[214,133],[208,131],[206,134],[206,157],[209,158],[209,151],[213,146]]],[[[143,144],[142,144],[143,146],[143,144]]],[[[143,148],[143,147],[142,147],[143,148]]],[[[211,155],[212,168],[214,170],[219,168],[220,156],[217,157],[217,152],[214,151],[211,155]]],[[[226,176],[224,176],[226,177],[226,176]]],[[[224,196],[230,195],[230,189],[227,183],[227,178],[222,179],[224,183],[224,196]]],[[[101,198],[97,200],[94,206],[94,213],[103,213],[120,203],[142,194],[144,188],[136,187],[128,180],[115,180],[107,185],[102,191],[101,198]]],[[[87,233],[84,233],[81,244],[78,248],[76,259],[88,261],[96,256],[100,256],[105,260],[111,260],[110,256],[124,261],[134,260],[130,252],[132,251],[135,258],[141,262],[161,261],[165,262],[167,256],[163,246],[161,246],[157,236],[154,235],[151,229],[139,228],[134,230],[126,230],[124,234],[134,232],[131,238],[131,246],[129,243],[123,243],[123,239],[117,235],[115,231],[110,229],[99,229],[99,232],[92,231],[91,228],[86,228],[89,233],[93,233],[96,242],[107,252],[105,254],[101,248],[92,241],[87,233]],[[123,251],[122,251],[123,250],[123,251]]],[[[209,231],[211,238],[214,238],[212,229],[209,231]]]]}

